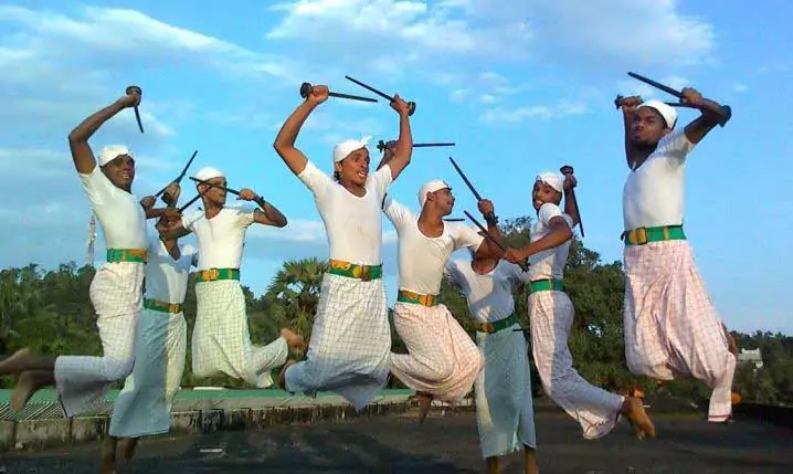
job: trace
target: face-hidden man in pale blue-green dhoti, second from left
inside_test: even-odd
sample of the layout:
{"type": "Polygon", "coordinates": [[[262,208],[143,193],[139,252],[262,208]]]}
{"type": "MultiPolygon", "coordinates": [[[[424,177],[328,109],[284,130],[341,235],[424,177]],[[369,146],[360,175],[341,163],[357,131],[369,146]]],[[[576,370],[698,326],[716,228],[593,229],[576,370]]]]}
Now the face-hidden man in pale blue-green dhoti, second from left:
{"type": "MultiPolygon", "coordinates": [[[[179,199],[179,185],[163,200],[172,209],[179,199]]],[[[154,209],[152,209],[154,210],[154,209]]],[[[157,210],[155,210],[157,211],[157,210]]],[[[155,228],[167,229],[168,215],[155,228]]],[[[198,266],[198,252],[176,239],[149,235],[144,310],[138,319],[135,368],[116,398],[109,435],[103,446],[103,472],[113,472],[116,443],[121,442],[125,461],[130,461],[140,436],[167,433],[170,409],[179,390],[187,356],[187,322],[182,313],[190,267],[198,266]]]]}

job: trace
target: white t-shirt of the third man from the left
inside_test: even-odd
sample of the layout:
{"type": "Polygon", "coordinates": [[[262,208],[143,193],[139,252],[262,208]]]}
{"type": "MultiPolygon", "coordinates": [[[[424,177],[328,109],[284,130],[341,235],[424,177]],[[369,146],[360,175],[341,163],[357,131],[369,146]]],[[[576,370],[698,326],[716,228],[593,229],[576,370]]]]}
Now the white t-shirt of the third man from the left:
{"type": "Polygon", "coordinates": [[[239,268],[245,232],[255,210],[223,208],[212,219],[204,211],[182,218],[182,227],[193,233],[199,246],[199,270],[239,268]]]}

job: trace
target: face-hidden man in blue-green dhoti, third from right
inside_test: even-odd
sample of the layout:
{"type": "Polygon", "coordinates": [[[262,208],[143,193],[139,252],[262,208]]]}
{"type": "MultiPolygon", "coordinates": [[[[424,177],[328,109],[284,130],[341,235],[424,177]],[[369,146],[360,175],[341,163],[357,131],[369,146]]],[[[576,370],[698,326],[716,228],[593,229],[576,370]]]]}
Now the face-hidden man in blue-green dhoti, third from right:
{"type": "MultiPolygon", "coordinates": [[[[479,228],[474,231],[480,233],[479,228]]],[[[512,296],[514,285],[528,283],[529,274],[499,257],[468,251],[470,260],[446,263],[446,275],[465,295],[485,359],[474,382],[482,455],[488,473],[499,473],[499,456],[522,445],[525,471],[533,474],[538,472],[537,434],[528,344],[519,330],[512,296]]]]}

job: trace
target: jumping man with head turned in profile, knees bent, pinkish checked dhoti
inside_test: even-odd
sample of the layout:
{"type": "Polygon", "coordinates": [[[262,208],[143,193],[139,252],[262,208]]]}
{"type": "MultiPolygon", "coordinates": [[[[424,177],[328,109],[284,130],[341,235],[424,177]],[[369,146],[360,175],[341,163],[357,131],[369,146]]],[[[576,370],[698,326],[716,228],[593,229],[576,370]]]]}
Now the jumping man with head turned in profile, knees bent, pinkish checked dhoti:
{"type": "MultiPolygon", "coordinates": [[[[463,247],[476,255],[498,257],[501,250],[465,224],[444,222],[454,196],[441,180],[419,191],[421,213],[385,198],[383,211],[399,234],[399,293],[394,327],[409,354],[391,355],[391,371],[416,391],[424,421],[433,399],[456,403],[472,389],[484,360],[474,341],[440,302],[441,281],[450,255],[463,247]]],[[[490,228],[493,203],[482,200],[479,212],[490,228]]]]}

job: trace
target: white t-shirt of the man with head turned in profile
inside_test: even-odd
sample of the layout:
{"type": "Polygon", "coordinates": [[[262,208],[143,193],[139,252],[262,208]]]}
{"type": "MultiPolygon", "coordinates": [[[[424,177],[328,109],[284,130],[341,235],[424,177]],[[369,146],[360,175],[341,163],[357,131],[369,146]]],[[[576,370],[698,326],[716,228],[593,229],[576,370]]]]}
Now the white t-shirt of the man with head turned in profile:
{"type": "Polygon", "coordinates": [[[391,197],[385,198],[383,211],[399,235],[399,287],[413,293],[437,295],[452,253],[464,246],[476,251],[485,240],[457,222],[444,222],[443,233],[431,239],[419,230],[419,218],[391,197]]]}

